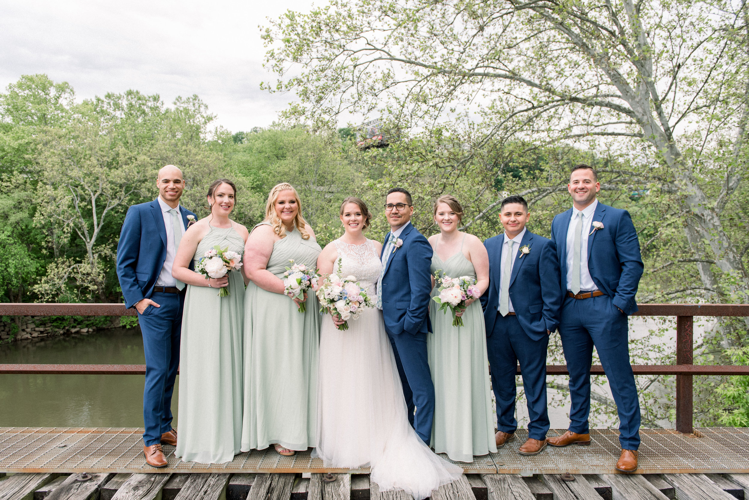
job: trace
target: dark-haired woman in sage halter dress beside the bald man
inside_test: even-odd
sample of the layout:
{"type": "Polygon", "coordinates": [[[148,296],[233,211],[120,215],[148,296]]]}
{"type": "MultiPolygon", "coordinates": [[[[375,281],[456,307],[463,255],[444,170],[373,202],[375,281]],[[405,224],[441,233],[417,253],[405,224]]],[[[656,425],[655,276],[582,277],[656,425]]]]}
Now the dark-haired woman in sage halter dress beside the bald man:
{"type": "Polygon", "coordinates": [[[223,278],[189,269],[218,245],[242,254],[247,229],[229,219],[237,189],[219,179],[208,189],[210,216],[189,225],[172,275],[187,284],[180,345],[179,436],[185,462],[226,463],[240,452],[242,432],[243,272],[223,278]],[[229,295],[219,296],[228,287],[229,295]]]}

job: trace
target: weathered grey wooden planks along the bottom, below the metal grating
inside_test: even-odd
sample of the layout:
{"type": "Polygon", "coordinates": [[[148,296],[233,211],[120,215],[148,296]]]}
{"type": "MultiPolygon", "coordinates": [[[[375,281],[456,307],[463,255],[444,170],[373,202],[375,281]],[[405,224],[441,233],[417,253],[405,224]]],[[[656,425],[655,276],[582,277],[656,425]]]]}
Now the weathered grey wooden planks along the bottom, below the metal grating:
{"type": "MultiPolygon", "coordinates": [[[[413,500],[402,491],[380,492],[369,475],[197,473],[19,473],[0,481],[1,500],[413,500]],[[183,477],[183,481],[175,481],[183,477]],[[171,484],[171,486],[170,486],[171,484]]],[[[749,500],[749,475],[464,475],[431,493],[431,500],[749,500]],[[569,478],[566,478],[569,479],[569,478]],[[479,491],[479,496],[474,492],[479,491]],[[483,493],[482,493],[483,492],[483,493]]]]}

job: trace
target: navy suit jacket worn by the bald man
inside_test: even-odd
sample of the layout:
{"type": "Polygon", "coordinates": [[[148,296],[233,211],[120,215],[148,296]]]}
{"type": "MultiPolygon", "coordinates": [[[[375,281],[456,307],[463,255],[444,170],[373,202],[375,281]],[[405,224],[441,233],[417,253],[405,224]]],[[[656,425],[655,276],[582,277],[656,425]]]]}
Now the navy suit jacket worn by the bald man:
{"type": "MultiPolygon", "coordinates": [[[[182,222],[194,213],[180,205],[182,222]]],[[[127,210],[117,245],[117,277],[125,307],[150,299],[166,260],[166,226],[161,205],[156,199],[133,205],[127,210]]],[[[190,264],[192,268],[192,263],[190,264]]]]}

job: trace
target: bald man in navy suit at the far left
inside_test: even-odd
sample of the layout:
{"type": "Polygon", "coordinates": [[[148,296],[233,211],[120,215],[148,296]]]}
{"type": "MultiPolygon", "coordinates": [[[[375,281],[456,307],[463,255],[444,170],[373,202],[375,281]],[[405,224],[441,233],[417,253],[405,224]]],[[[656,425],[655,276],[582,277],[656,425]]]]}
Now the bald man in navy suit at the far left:
{"type": "Polygon", "coordinates": [[[180,365],[184,288],[172,277],[177,247],[195,214],[179,204],[184,180],[175,165],[157,179],[159,198],[127,210],[117,246],[117,276],[127,308],[136,308],[145,350],[143,453],[150,466],[166,467],[161,444],[177,445],[172,391],[180,365]]]}

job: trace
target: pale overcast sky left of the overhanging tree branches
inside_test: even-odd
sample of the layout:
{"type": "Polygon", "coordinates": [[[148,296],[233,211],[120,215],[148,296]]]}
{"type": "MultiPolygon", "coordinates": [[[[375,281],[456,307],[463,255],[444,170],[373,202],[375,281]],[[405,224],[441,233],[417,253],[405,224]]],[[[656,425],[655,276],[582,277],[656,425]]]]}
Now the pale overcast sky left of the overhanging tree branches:
{"type": "MultiPolygon", "coordinates": [[[[321,4],[316,1],[316,4],[321,4]]],[[[268,94],[258,25],[301,0],[0,0],[0,88],[46,73],[78,100],[136,89],[166,103],[198,94],[234,132],[267,126],[294,98],[268,94]]]]}

